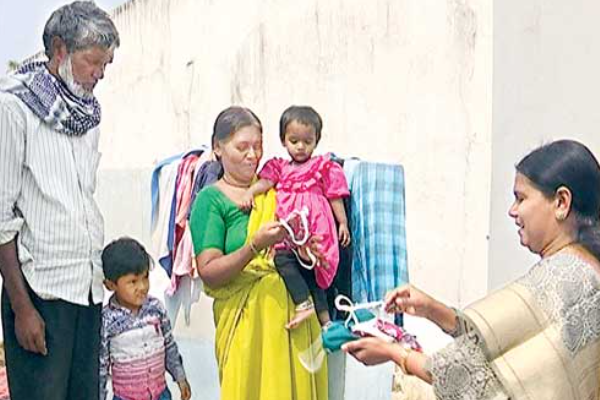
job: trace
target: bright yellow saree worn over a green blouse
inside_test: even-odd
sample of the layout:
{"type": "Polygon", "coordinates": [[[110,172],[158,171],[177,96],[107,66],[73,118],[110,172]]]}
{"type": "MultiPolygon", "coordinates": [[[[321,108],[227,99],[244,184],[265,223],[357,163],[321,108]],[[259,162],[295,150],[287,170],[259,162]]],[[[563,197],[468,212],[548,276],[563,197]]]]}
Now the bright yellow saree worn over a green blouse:
{"type": "MultiPolygon", "coordinates": [[[[274,220],[275,191],[257,196],[255,204],[246,242],[274,220]]],[[[327,399],[327,366],[310,373],[298,359],[319,338],[319,323],[313,316],[285,329],[295,306],[271,255],[255,257],[226,285],[205,289],[214,298],[222,400],[327,399]]]]}

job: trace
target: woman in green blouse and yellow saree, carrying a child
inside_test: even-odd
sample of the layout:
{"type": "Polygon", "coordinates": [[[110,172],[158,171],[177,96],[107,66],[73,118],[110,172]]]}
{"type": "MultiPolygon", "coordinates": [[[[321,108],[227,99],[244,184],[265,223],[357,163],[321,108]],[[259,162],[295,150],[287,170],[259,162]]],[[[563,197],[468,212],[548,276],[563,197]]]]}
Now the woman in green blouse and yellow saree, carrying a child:
{"type": "Polygon", "coordinates": [[[326,365],[311,373],[298,357],[318,340],[318,320],[285,329],[295,306],[268,251],[285,235],[274,221],[274,192],[257,196],[250,215],[237,205],[262,157],[261,123],[249,109],[227,108],[212,143],[223,176],[198,194],[191,231],[198,272],[214,298],[221,399],[326,400],[326,365]]]}

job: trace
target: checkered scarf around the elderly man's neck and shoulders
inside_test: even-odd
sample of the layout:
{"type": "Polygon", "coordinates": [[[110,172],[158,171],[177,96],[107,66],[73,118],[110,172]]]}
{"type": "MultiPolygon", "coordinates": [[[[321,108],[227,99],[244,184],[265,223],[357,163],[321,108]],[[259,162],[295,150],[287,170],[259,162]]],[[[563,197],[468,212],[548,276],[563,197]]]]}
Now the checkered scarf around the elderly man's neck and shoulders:
{"type": "Polygon", "coordinates": [[[42,121],[58,132],[84,135],[100,123],[100,104],[95,97],[80,98],[52,75],[45,62],[32,62],[2,79],[0,90],[20,98],[42,121]]]}

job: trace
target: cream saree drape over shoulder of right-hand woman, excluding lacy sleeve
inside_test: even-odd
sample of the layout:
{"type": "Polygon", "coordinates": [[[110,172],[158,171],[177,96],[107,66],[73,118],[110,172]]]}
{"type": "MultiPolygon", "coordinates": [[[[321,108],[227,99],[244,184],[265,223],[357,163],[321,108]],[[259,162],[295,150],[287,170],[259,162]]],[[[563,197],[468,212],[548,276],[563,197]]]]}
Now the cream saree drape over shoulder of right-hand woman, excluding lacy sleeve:
{"type": "Polygon", "coordinates": [[[544,259],[464,315],[512,400],[598,399],[600,280],[585,261],[544,259]]]}

